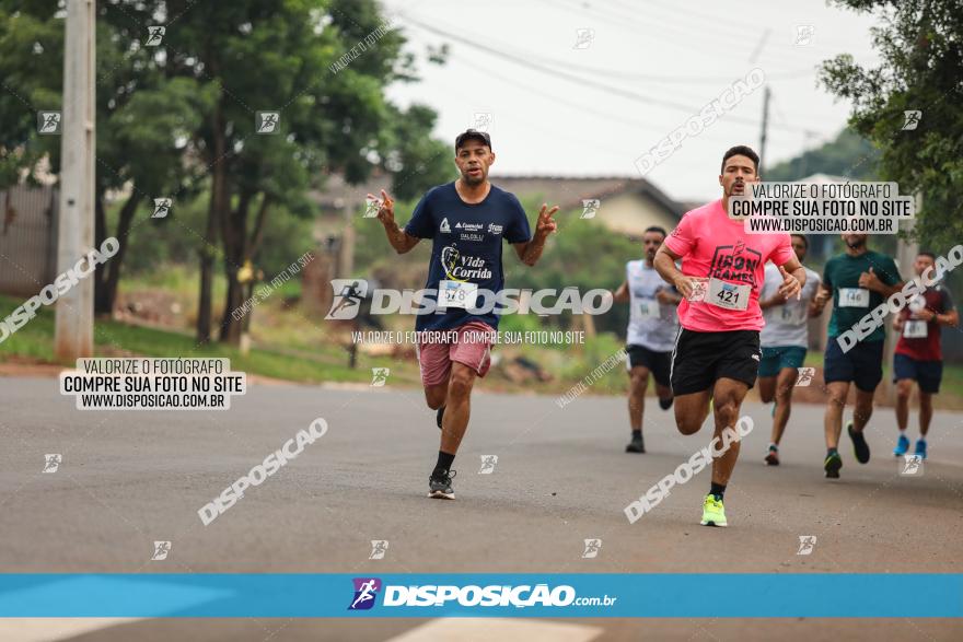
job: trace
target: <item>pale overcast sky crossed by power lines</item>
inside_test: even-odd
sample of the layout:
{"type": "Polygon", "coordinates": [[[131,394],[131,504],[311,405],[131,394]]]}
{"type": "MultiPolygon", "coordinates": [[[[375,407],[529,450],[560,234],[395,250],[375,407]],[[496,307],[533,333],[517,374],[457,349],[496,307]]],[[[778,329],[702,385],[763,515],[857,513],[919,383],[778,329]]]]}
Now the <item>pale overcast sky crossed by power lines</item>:
{"type": "MultiPolygon", "coordinates": [[[[817,1],[723,4],[672,0],[384,0],[416,52],[422,81],[388,95],[432,106],[442,139],[490,113],[498,175],[640,176],[635,161],[753,68],[773,92],[764,163],[831,140],[849,105],[817,86],[815,68],[838,54],[874,63],[875,19],[817,1]],[[730,10],[731,8],[731,10],[730,10]],[[797,45],[800,26],[812,27],[797,45]],[[433,31],[432,31],[433,30],[433,31]],[[577,48],[578,31],[592,30],[577,48]],[[805,40],[802,40],[804,43],[805,40]],[[445,66],[427,46],[448,43],[445,66]]],[[[722,152],[758,151],[763,93],[655,166],[647,178],[678,200],[719,194],[722,152]]]]}

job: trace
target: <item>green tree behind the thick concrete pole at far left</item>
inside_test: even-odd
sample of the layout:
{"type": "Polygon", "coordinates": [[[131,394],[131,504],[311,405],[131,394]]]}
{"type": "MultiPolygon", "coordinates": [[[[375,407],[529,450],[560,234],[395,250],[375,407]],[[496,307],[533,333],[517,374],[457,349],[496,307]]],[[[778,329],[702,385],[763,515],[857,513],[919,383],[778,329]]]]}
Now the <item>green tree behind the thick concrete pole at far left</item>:
{"type": "MultiPolygon", "coordinates": [[[[147,30],[109,7],[97,10],[96,40],[96,245],[121,240],[116,256],[94,272],[94,306],[114,307],[135,213],[152,197],[182,192],[189,184],[183,156],[189,133],[209,102],[195,79],[158,73],[147,30]],[[117,225],[107,230],[105,201],[124,195],[117,225]]],[[[0,0],[0,186],[38,182],[60,170],[60,138],[38,136],[37,110],[59,110],[63,85],[63,15],[57,2],[0,0]],[[47,162],[45,162],[47,161],[47,162]]]]}

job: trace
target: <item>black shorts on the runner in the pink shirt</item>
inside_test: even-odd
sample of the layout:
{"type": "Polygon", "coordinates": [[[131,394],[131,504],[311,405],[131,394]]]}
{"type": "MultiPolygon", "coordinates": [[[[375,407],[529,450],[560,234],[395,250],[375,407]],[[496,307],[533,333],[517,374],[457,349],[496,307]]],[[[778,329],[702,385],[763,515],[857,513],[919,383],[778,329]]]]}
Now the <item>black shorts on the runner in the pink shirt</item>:
{"type": "Polygon", "coordinates": [[[699,332],[682,328],[672,352],[672,393],[678,396],[708,390],[722,377],[753,387],[761,358],[756,330],[699,332]]]}

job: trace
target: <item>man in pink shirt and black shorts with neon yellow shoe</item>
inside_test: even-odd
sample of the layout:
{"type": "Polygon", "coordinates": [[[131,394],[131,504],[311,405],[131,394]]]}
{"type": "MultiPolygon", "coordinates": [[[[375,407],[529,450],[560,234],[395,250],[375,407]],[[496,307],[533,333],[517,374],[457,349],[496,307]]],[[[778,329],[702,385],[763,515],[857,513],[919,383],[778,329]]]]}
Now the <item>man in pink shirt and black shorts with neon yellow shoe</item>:
{"type": "MultiPolygon", "coordinates": [[[[759,180],[758,167],[759,156],[751,148],[727,151],[719,176],[722,198],[683,215],[655,255],[655,269],[683,295],[670,375],[682,434],[698,432],[710,399],[716,436],[722,440],[723,429],[735,427],[759,367],[759,291],[766,261],[779,267],[779,294],[787,300],[798,296],[805,283],[789,234],[749,234],[743,221],[729,218],[729,197],[746,194],[746,184],[759,180]],[[680,259],[681,270],[675,267],[680,259]]],[[[739,442],[727,448],[728,441],[722,442],[724,452],[713,454],[704,526],[727,525],[722,495],[739,458],[739,442]]]]}

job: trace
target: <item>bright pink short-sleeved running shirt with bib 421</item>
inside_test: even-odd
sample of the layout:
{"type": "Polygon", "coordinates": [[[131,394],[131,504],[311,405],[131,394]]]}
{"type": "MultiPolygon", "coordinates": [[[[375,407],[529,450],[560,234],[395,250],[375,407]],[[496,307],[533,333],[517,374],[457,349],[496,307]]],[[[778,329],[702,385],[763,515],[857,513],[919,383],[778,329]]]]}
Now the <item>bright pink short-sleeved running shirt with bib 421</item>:
{"type": "Polygon", "coordinates": [[[699,332],[763,329],[759,291],[766,261],[781,266],[796,256],[789,234],[747,234],[742,221],[733,221],[726,213],[722,199],[686,212],[665,245],[682,257],[682,273],[687,277],[752,287],[745,310],[683,299],[678,304],[678,323],[699,332]]]}

